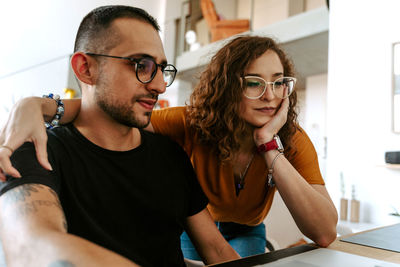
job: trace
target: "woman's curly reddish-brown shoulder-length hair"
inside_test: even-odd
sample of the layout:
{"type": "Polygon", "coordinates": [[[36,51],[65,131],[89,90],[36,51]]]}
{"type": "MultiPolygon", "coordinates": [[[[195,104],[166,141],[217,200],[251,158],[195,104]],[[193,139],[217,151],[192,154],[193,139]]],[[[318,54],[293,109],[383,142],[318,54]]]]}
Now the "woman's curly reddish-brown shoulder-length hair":
{"type": "MultiPolygon", "coordinates": [[[[271,38],[239,36],[211,59],[190,97],[188,122],[204,145],[211,146],[222,162],[232,160],[240,148],[246,121],[239,116],[243,97],[241,79],[249,65],[267,50],[279,56],[284,76],[294,76],[294,67],[285,52],[271,38]]],[[[297,128],[296,91],[289,97],[289,111],[279,136],[286,152],[297,128]]]]}

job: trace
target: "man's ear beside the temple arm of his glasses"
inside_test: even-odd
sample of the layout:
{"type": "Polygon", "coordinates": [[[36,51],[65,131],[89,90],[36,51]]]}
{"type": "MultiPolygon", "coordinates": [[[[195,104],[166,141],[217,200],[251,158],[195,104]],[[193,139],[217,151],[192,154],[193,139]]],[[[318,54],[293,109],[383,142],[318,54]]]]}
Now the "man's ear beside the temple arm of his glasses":
{"type": "Polygon", "coordinates": [[[83,83],[96,83],[97,61],[82,52],[76,52],[71,57],[71,67],[75,76],[83,83]]]}

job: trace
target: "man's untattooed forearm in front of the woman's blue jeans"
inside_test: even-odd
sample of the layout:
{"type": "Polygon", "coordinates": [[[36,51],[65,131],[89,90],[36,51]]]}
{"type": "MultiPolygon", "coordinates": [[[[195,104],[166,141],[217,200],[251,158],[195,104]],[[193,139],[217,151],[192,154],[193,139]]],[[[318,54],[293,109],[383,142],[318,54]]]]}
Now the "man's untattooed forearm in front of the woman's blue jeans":
{"type": "Polygon", "coordinates": [[[240,258],[219,232],[207,208],[188,217],[185,230],[204,263],[219,263],[240,258]]]}

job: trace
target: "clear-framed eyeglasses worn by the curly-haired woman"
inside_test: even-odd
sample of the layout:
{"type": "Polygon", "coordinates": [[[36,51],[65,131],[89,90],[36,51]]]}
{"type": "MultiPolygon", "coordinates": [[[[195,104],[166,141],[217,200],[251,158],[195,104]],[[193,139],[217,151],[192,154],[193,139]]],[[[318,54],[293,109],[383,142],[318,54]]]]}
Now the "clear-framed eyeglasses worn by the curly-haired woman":
{"type": "Polygon", "coordinates": [[[259,99],[264,95],[269,84],[272,84],[272,92],[276,97],[285,99],[292,94],[296,84],[296,78],[293,77],[281,77],[273,82],[267,82],[258,76],[245,76],[243,81],[243,94],[249,99],[259,99]]]}

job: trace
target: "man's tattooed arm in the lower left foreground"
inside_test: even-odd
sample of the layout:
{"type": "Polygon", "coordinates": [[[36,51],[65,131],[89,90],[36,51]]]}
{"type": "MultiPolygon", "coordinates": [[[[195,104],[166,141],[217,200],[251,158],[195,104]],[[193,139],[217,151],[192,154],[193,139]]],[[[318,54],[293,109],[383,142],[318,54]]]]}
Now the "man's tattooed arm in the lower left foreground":
{"type": "Polygon", "coordinates": [[[0,235],[9,267],[138,266],[68,234],[57,194],[44,185],[23,184],[0,197],[0,235]]]}

